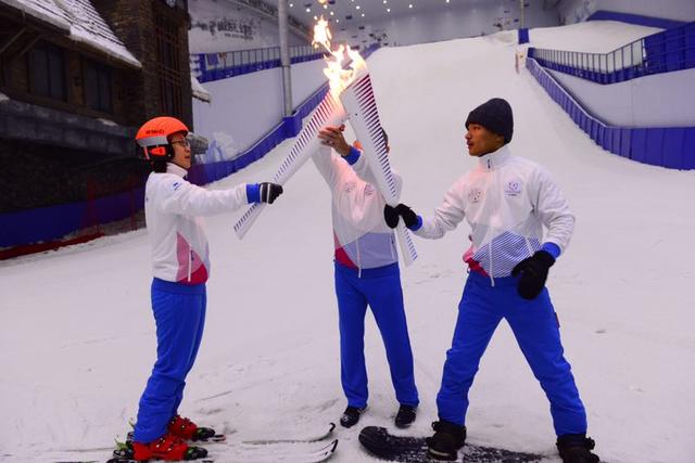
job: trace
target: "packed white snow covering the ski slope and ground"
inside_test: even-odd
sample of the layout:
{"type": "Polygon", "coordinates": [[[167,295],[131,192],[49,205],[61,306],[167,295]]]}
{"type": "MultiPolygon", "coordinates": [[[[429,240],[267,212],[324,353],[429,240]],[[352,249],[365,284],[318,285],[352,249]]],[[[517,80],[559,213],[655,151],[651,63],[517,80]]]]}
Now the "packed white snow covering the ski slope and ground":
{"type": "MultiPolygon", "coordinates": [[[[596,48],[604,39],[583,37],[596,48]]],[[[693,462],[695,171],[602,150],[528,72],[515,72],[515,49],[483,37],[370,57],[391,162],[405,181],[402,201],[430,215],[476,162],[463,138],[468,112],[507,99],[513,153],[543,164],[577,216],[548,286],[596,452],[612,463],[693,462]]],[[[291,143],[210,188],[271,179],[291,143]]],[[[207,219],[206,332],[180,409],[229,436],[232,447],[214,453],[222,462],[244,439],[314,434],[345,407],[327,187],[307,164],[239,241],[232,224],[242,213],[207,219]]],[[[443,240],[415,237],[420,257],[402,268],[421,403],[414,426],[399,434],[430,434],[437,419],[468,232],[462,223],[443,240]]],[[[154,361],[150,281],[144,230],[0,262],[0,460],[108,458],[91,449],[110,448],[129,429],[154,361]]],[[[358,426],[337,429],[337,463],[376,461],[357,441],[363,425],[393,429],[397,403],[383,346],[371,316],[366,323],[369,409],[358,426]]],[[[470,442],[559,461],[547,401],[505,323],[470,401],[470,442]]]]}

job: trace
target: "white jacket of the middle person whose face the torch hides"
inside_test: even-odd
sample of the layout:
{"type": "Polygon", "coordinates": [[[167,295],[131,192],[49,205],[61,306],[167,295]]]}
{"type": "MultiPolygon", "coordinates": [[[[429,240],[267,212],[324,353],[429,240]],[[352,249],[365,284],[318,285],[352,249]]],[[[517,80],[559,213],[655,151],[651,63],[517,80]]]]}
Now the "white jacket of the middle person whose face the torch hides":
{"type": "MultiPolygon", "coordinates": [[[[313,156],[332,193],[336,261],[353,269],[397,262],[395,237],[383,219],[386,201],[364,155],[352,166],[321,146],[313,156]]],[[[401,177],[394,172],[399,195],[401,177]]]]}

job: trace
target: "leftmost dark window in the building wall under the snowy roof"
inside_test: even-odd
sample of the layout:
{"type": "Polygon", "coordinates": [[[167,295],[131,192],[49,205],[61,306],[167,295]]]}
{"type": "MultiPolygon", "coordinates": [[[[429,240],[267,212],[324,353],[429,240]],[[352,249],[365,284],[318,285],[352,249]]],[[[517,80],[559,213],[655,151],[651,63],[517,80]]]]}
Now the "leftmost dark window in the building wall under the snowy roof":
{"type": "Polygon", "coordinates": [[[29,91],[34,94],[67,100],[63,50],[46,42],[40,42],[31,49],[29,85],[29,91]]]}

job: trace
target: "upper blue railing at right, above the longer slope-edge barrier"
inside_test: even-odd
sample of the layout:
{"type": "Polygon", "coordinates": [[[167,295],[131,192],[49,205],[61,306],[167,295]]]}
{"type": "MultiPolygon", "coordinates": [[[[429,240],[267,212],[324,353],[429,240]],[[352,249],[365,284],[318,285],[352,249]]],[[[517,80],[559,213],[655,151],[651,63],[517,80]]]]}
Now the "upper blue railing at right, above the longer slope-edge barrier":
{"type": "Polygon", "coordinates": [[[530,48],[528,56],[548,69],[598,83],[695,67],[695,23],[635,40],[609,53],[530,48]]]}

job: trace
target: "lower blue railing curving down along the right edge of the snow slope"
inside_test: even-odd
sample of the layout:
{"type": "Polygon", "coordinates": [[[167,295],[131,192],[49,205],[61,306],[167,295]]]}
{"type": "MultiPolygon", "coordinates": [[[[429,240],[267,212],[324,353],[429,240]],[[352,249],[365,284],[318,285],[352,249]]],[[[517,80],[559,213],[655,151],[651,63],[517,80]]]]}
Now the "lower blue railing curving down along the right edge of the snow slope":
{"type": "Polygon", "coordinates": [[[548,95],[604,150],[644,164],[695,169],[695,127],[615,127],[592,116],[545,70],[527,59],[527,68],[548,95]]]}

